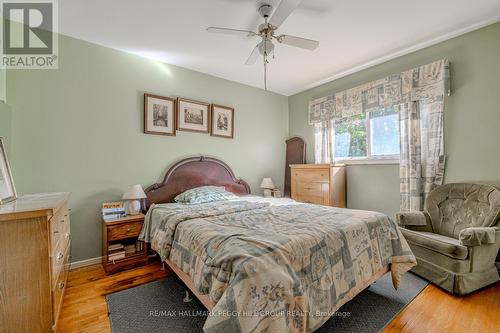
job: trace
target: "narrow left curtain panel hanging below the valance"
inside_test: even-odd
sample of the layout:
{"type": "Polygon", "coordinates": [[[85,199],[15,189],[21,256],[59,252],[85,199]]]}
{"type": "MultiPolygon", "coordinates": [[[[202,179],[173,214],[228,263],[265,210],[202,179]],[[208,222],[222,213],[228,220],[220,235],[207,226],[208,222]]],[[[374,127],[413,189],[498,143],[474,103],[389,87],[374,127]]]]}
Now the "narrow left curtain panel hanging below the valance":
{"type": "Polygon", "coordinates": [[[316,164],[333,163],[334,140],[333,120],[314,124],[314,162],[316,164]]]}

